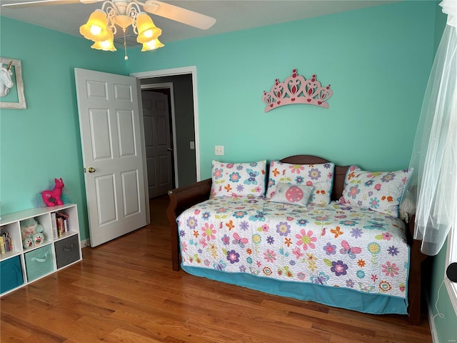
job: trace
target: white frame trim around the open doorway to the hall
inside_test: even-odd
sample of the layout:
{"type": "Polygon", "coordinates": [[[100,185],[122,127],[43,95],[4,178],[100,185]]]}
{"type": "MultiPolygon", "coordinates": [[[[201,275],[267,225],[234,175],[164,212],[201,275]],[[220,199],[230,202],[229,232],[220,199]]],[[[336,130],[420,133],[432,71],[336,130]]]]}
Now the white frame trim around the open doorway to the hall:
{"type": "MultiPolygon", "coordinates": [[[[130,76],[136,79],[150,79],[152,77],[160,76],[176,76],[176,75],[192,75],[192,95],[194,98],[194,131],[195,131],[195,165],[196,165],[196,178],[201,181],[200,176],[200,141],[199,141],[199,106],[197,102],[197,81],[196,81],[196,66],[183,66],[181,68],[162,69],[142,71],[139,73],[131,73],[130,76]]],[[[141,93],[141,91],[139,91],[141,93]]],[[[177,166],[177,164],[176,164],[177,166]]]]}

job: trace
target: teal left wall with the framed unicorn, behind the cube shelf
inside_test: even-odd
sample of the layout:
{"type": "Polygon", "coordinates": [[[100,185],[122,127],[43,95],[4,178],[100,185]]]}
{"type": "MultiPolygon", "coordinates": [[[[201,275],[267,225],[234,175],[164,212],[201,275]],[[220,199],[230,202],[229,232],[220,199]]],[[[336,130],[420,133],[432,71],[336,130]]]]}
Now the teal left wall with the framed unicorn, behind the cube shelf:
{"type": "Polygon", "coordinates": [[[122,51],[90,49],[79,37],[0,17],[0,56],[20,59],[26,109],[0,109],[0,201],[6,214],[36,207],[62,178],[89,237],[74,68],[125,73],[122,51]],[[117,55],[117,56],[116,56],[117,55]]]}

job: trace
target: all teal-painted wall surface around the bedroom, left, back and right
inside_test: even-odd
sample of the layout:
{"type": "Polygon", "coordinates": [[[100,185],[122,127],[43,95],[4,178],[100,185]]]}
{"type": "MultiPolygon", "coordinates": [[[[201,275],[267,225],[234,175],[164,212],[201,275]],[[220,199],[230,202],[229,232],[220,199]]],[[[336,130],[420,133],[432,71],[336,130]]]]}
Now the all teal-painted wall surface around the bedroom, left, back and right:
{"type": "MultiPolygon", "coordinates": [[[[121,49],[95,51],[85,39],[0,17],[0,56],[21,59],[27,102],[25,110],[0,113],[0,213],[34,207],[36,194],[62,177],[79,205],[81,239],[89,237],[76,67],[129,74],[196,66],[202,178],[219,157],[215,145],[225,146],[224,161],[317,154],[365,169],[404,168],[440,36],[437,17],[436,1],[402,1],[164,41],[156,51],[130,49],[127,63],[121,49]],[[264,113],[263,90],[294,68],[331,84],[330,108],[290,105],[264,113]]],[[[433,284],[441,283],[443,268],[437,259],[433,284]]],[[[438,305],[455,319],[445,293],[438,305]]],[[[450,337],[453,322],[437,321],[440,335],[450,337]]]]}

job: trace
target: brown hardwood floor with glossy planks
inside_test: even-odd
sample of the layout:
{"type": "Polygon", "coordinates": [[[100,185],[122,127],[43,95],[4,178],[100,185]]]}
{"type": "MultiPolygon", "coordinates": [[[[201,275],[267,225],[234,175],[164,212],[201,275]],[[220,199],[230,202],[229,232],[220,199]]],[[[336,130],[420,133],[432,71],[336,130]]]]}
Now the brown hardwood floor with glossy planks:
{"type": "Polygon", "coordinates": [[[168,197],[151,225],[1,298],[1,342],[432,342],[428,320],[276,297],[171,270],[168,197]]]}

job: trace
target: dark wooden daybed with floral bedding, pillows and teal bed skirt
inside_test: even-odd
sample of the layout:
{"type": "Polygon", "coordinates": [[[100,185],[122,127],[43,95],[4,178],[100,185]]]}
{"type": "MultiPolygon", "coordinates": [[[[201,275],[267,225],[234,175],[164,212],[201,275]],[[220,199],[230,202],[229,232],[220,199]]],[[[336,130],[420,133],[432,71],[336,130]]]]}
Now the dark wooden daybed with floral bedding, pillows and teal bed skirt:
{"type": "Polygon", "coordinates": [[[364,172],[311,155],[268,171],[262,162],[214,161],[211,179],[169,192],[173,269],[419,324],[425,255],[414,217],[397,218],[412,171],[364,172]]]}

